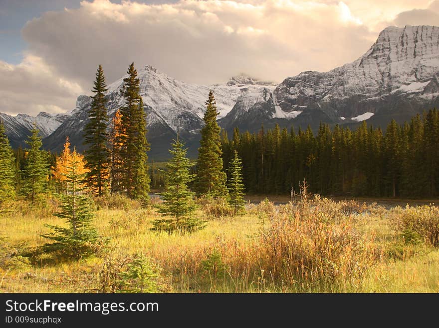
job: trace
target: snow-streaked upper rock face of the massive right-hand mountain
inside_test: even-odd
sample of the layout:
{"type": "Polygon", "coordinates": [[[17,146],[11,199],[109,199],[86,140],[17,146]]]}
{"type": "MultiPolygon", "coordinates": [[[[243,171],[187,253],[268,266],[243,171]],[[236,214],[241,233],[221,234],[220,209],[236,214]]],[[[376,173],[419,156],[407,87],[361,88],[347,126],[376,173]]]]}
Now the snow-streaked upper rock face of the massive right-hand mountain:
{"type": "Polygon", "coordinates": [[[351,117],[375,113],[375,103],[391,94],[427,92],[437,96],[438,74],[439,27],[390,26],[354,62],[329,72],[306,71],[288,77],[274,93],[283,110],[318,103],[351,117]],[[430,84],[432,88],[427,90],[430,84]]]}

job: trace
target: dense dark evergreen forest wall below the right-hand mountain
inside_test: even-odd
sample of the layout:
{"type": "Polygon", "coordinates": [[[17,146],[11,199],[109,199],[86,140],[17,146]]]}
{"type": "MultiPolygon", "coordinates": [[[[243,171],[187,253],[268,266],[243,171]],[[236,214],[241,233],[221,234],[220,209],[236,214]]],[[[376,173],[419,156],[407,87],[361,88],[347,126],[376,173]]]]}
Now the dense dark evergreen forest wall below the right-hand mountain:
{"type": "MultiPolygon", "coordinates": [[[[437,197],[439,195],[439,111],[432,109],[386,131],[363,122],[357,129],[321,124],[297,133],[276,126],[258,133],[222,131],[223,162],[237,150],[244,185],[253,193],[297,191],[306,179],[323,195],[437,197]]],[[[227,172],[227,167],[225,167],[227,172]]]]}

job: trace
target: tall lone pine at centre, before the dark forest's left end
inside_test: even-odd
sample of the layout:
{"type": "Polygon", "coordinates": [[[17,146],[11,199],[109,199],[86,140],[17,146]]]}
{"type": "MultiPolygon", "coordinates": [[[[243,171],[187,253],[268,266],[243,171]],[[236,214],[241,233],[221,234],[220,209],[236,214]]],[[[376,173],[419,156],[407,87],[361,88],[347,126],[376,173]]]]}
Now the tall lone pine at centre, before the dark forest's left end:
{"type": "Polygon", "coordinates": [[[214,197],[225,196],[226,174],[222,171],[222,151],[217,123],[217,106],[213,92],[209,92],[204,114],[205,126],[201,130],[197,161],[197,194],[214,197]]]}

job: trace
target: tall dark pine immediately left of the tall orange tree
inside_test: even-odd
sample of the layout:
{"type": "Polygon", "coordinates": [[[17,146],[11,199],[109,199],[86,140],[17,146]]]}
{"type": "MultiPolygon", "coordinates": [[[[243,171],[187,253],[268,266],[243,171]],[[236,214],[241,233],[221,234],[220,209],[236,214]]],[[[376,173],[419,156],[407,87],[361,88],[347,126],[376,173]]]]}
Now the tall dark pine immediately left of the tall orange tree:
{"type": "Polygon", "coordinates": [[[88,172],[85,176],[87,186],[96,196],[103,196],[107,190],[110,151],[107,147],[107,108],[105,107],[105,92],[107,91],[104,70],[99,65],[94,81],[92,103],[88,110],[89,122],[84,129],[84,151],[88,172]]]}

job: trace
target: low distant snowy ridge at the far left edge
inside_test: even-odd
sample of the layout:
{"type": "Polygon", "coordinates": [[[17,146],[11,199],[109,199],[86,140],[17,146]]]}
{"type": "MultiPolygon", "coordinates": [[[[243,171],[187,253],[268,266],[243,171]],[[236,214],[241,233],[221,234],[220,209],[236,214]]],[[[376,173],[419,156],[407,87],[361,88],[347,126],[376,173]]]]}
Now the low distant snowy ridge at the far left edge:
{"type": "Polygon", "coordinates": [[[54,132],[70,115],[68,114],[49,114],[40,112],[36,116],[27,114],[17,114],[16,116],[0,113],[0,119],[4,123],[6,133],[12,144],[21,144],[25,136],[29,135],[29,130],[33,124],[39,130],[41,137],[47,137],[54,132]]]}

